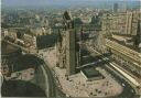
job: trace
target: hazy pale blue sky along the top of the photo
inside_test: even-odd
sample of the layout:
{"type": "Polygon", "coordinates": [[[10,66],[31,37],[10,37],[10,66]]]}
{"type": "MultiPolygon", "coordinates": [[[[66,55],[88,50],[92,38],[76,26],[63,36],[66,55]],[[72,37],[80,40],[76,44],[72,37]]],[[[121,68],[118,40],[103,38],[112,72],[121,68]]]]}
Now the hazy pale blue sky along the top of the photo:
{"type": "MultiPolygon", "coordinates": [[[[91,2],[91,1],[106,1],[106,0],[2,0],[2,6],[45,6],[45,4],[57,4],[57,3],[77,3],[77,2],[91,2]]],[[[109,1],[109,0],[107,0],[109,1]]],[[[123,1],[123,0],[111,0],[111,1],[123,1]]],[[[134,0],[126,0],[134,1],[134,0]]],[[[141,0],[138,0],[141,1],[141,0]]]]}

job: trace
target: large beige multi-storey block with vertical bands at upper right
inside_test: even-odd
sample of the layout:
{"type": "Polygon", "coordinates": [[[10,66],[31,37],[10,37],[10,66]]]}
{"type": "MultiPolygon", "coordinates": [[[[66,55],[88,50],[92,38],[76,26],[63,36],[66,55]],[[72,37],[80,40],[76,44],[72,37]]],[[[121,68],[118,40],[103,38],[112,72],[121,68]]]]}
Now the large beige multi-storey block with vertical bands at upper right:
{"type": "Polygon", "coordinates": [[[139,13],[135,11],[107,14],[104,15],[104,23],[109,23],[109,26],[104,24],[104,29],[109,28],[112,34],[137,35],[138,20],[139,13]]]}

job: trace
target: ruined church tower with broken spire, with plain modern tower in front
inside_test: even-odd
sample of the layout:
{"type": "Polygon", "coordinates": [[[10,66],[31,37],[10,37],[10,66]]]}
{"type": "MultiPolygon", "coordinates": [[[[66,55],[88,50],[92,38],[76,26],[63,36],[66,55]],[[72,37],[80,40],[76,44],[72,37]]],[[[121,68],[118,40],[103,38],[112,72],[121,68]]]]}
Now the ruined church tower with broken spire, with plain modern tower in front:
{"type": "Polygon", "coordinates": [[[58,35],[58,67],[66,68],[66,75],[75,74],[76,69],[76,34],[69,13],[64,13],[64,31],[58,35]]]}

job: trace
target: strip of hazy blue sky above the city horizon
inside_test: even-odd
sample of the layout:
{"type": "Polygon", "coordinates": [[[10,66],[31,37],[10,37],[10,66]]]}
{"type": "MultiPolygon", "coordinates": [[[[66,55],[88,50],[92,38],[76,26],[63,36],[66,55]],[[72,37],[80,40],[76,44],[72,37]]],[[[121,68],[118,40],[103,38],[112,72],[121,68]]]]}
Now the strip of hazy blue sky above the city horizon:
{"type": "Polygon", "coordinates": [[[78,3],[91,3],[95,2],[120,2],[126,1],[127,3],[132,1],[141,1],[141,0],[2,0],[1,4],[6,7],[17,7],[17,6],[64,6],[64,4],[78,4],[78,3]]]}

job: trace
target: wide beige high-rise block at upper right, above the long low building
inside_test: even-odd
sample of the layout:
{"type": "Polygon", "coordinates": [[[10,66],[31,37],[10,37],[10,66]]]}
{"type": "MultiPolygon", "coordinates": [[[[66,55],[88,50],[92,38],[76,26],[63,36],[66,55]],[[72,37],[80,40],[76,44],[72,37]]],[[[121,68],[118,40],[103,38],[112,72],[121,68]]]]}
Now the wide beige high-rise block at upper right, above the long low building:
{"type": "MultiPolygon", "coordinates": [[[[119,13],[106,13],[102,18],[102,31],[106,37],[120,35],[131,37],[130,42],[135,44],[134,37],[139,36],[139,12],[127,11],[119,13]]],[[[139,41],[139,37],[138,37],[139,41]]]]}

